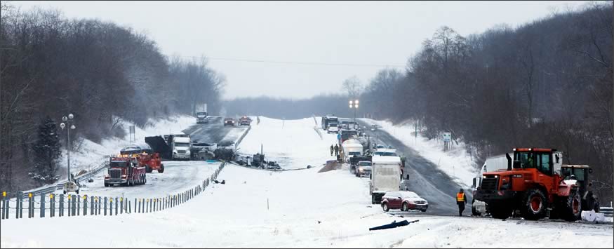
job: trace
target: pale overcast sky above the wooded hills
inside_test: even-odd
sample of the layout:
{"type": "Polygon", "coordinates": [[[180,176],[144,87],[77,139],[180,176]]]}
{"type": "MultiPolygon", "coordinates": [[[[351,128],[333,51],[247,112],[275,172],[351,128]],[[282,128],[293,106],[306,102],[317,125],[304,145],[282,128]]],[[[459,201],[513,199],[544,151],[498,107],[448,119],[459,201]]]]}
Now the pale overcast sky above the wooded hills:
{"type": "Polygon", "coordinates": [[[205,55],[227,78],[224,97],[305,98],[366,84],[385,65],[401,66],[443,25],[466,36],[512,27],[578,1],[15,1],[98,18],[145,32],[166,55],[205,55]],[[239,60],[264,60],[246,62],[239,60]],[[314,62],[304,63],[279,62],[314,62]],[[339,65],[343,64],[343,65],[339,65]],[[349,65],[345,65],[349,64],[349,65]]]}

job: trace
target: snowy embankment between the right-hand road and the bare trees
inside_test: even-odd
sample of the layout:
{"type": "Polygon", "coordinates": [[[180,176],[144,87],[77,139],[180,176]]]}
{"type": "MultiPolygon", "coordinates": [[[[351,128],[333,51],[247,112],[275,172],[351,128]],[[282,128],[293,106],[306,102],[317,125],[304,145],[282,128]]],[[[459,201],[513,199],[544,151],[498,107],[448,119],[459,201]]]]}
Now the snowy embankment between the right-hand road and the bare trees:
{"type": "Polygon", "coordinates": [[[396,137],[407,147],[414,149],[420,156],[432,161],[443,172],[455,179],[460,185],[471,187],[472,178],[477,174],[475,163],[472,162],[469,154],[465,151],[465,144],[459,142],[448,152],[443,152],[443,142],[428,140],[418,134],[415,137],[415,126],[413,123],[405,123],[394,126],[389,121],[377,121],[373,119],[361,119],[365,123],[377,124],[382,130],[396,137]]]}

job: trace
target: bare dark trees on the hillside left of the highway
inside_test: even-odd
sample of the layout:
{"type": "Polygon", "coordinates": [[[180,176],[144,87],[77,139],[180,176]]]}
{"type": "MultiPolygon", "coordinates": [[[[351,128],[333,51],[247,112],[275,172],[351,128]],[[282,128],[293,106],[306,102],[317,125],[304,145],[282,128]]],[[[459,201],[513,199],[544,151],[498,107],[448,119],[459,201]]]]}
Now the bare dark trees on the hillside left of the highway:
{"type": "Polygon", "coordinates": [[[74,114],[71,140],[100,142],[124,137],[124,121],[143,127],[201,103],[218,112],[225,83],[205,59],[168,58],[130,27],[6,2],[0,70],[0,189],[8,191],[58,177],[62,116],[74,114]]]}

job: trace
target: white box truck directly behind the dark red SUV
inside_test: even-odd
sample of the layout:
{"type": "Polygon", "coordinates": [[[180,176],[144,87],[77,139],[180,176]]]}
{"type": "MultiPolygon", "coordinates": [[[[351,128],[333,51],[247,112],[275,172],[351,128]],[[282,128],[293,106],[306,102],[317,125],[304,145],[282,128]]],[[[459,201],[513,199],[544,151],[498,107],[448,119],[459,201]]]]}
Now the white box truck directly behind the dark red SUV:
{"type": "Polygon", "coordinates": [[[401,158],[399,156],[373,156],[369,194],[371,204],[381,203],[387,191],[401,190],[401,158]]]}

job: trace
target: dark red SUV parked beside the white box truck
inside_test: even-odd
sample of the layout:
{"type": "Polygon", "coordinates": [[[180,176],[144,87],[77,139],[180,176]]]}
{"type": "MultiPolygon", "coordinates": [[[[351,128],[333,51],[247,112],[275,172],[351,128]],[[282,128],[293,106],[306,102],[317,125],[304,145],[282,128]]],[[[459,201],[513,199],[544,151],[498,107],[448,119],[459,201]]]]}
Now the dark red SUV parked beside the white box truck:
{"type": "Polygon", "coordinates": [[[412,191],[389,191],[382,196],[382,209],[388,212],[390,209],[401,211],[420,210],[426,212],[429,208],[427,200],[412,191]]]}

